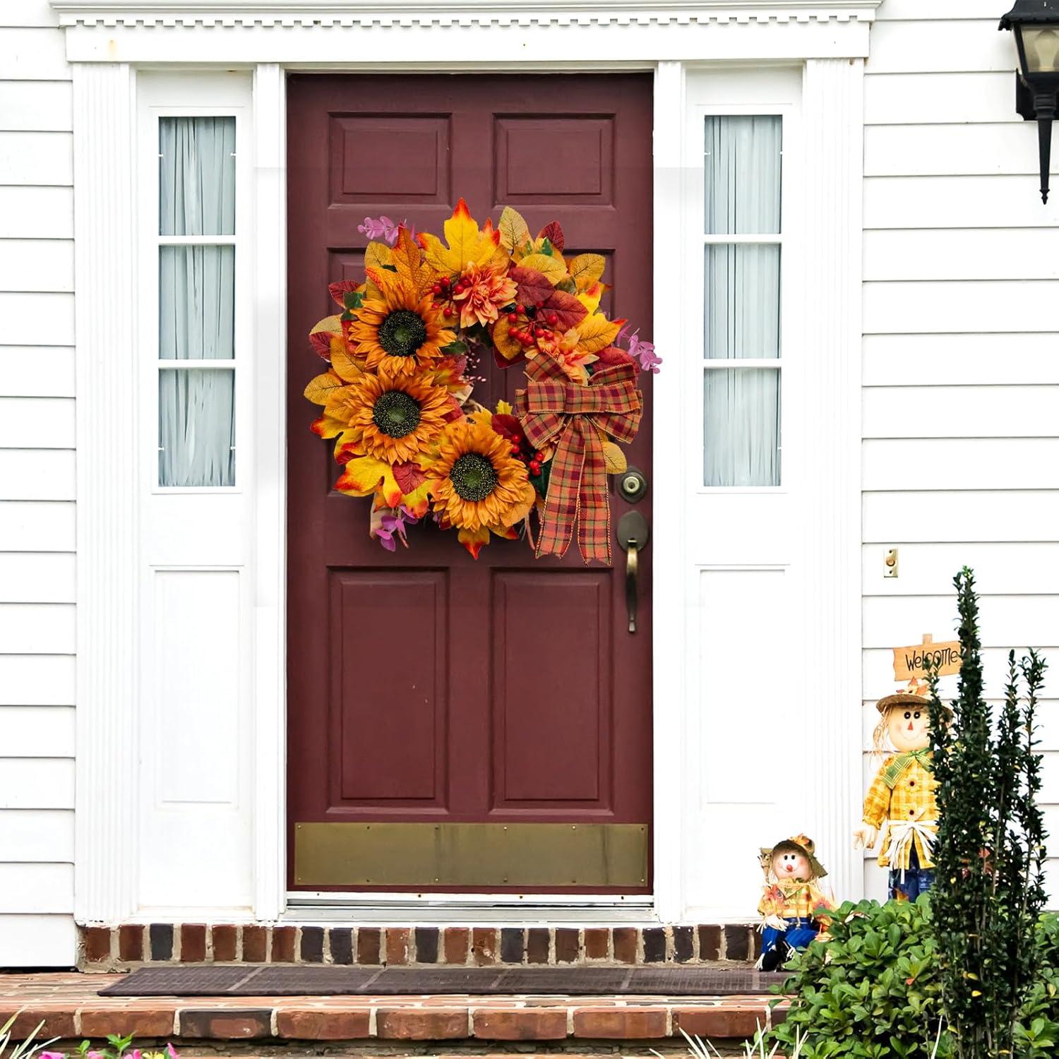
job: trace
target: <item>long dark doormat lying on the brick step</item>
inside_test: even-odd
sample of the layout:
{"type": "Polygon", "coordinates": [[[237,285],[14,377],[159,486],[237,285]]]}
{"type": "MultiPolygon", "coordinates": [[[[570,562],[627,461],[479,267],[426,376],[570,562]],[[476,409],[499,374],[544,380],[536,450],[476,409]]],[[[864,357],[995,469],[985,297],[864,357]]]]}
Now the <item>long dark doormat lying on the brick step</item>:
{"type": "Polygon", "coordinates": [[[785,975],[716,967],[142,967],[101,997],[724,997],[785,975]]]}

